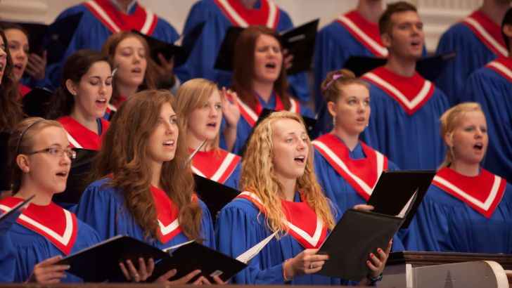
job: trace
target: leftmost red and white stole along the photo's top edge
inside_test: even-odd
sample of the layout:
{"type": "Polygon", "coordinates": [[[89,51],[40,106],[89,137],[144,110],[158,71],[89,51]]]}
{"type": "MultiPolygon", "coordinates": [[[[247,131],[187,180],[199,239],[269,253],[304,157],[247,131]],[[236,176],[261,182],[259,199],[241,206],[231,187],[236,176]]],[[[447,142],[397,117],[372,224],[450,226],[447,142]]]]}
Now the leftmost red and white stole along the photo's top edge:
{"type": "Polygon", "coordinates": [[[89,0],[84,6],[112,33],[137,30],[151,35],[155,30],[158,17],[148,9],[135,4],[135,11],[126,14],[117,10],[110,0],[89,0]]]}

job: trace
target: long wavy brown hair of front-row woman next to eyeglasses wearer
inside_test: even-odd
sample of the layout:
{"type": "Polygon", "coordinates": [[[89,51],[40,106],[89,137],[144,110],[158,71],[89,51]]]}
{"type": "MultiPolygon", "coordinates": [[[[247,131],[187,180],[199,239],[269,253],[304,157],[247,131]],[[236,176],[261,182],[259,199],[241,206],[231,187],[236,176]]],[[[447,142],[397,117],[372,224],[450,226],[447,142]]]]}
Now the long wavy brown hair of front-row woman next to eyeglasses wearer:
{"type": "MultiPolygon", "coordinates": [[[[155,239],[158,222],[150,191],[151,166],[147,160],[147,147],[165,103],[175,108],[174,96],[169,91],[146,90],[128,98],[110,122],[92,170],[94,179],[113,175],[109,185],[124,193],[130,214],[145,231],[146,237],[155,239]]],[[[181,124],[178,124],[178,129],[179,134],[184,131],[181,124]]],[[[198,239],[202,210],[198,202],[192,201],[194,182],[187,157],[185,138],[179,136],[174,159],[162,165],[160,183],[162,190],[179,207],[183,233],[190,239],[198,239]]]]}

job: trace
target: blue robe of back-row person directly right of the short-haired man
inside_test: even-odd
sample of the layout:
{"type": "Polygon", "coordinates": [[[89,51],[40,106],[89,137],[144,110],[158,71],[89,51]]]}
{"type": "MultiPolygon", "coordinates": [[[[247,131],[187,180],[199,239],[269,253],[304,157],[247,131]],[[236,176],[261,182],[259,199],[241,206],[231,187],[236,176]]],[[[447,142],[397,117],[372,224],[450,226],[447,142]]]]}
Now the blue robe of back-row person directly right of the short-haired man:
{"type": "Polygon", "coordinates": [[[447,95],[450,106],[461,101],[463,85],[469,75],[494,60],[496,55],[462,23],[457,23],[444,32],[437,45],[437,54],[455,51],[456,57],[447,63],[437,78],[436,84],[447,95]]]}

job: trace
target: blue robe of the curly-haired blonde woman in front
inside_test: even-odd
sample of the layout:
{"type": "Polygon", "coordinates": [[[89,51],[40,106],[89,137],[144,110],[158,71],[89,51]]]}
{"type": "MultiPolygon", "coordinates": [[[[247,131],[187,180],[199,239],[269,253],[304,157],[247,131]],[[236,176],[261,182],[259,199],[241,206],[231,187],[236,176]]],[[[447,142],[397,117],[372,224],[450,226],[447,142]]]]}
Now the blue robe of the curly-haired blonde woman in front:
{"type": "MultiPolygon", "coordinates": [[[[250,249],[272,234],[263,214],[247,199],[234,199],[224,207],[217,220],[217,243],[222,253],[233,258],[250,249]]],[[[297,256],[304,248],[290,235],[274,238],[252,258],[240,273],[232,278],[233,284],[284,284],[283,262],[297,256]]],[[[322,275],[300,275],[291,284],[357,284],[322,275]]]]}

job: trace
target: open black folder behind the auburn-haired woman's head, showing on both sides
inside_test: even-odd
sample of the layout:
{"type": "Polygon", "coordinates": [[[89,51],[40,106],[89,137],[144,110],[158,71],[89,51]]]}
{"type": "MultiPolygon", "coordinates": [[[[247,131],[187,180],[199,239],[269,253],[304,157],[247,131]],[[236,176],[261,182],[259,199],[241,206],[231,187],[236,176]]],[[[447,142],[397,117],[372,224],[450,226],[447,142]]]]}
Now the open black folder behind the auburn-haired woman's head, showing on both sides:
{"type": "MultiPolygon", "coordinates": [[[[279,34],[278,40],[281,41],[281,46],[288,49],[288,52],[293,55],[292,66],[286,70],[288,75],[307,71],[311,68],[318,24],[319,19],[316,19],[279,34]]],[[[215,69],[226,71],[233,70],[233,55],[236,49],[236,40],[243,29],[244,28],[241,27],[229,27],[222,41],[219,53],[217,53],[215,69]]]]}

